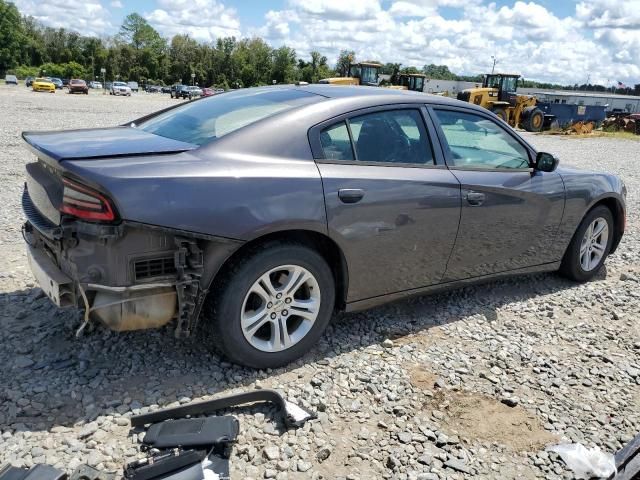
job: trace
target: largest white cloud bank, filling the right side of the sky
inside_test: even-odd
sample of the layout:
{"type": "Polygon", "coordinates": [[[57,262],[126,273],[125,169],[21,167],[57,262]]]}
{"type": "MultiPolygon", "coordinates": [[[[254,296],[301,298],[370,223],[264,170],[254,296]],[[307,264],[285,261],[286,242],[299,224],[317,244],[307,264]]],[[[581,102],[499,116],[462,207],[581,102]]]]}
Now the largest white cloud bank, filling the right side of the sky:
{"type": "Polygon", "coordinates": [[[461,74],[496,68],[558,83],[640,83],[640,0],[590,0],[561,18],[538,1],[497,6],[483,0],[289,0],[254,33],[298,55],[319,50],[422,67],[446,64],[461,74]],[[445,18],[442,7],[459,9],[445,18]],[[604,25],[615,28],[604,28],[604,25]]]}

